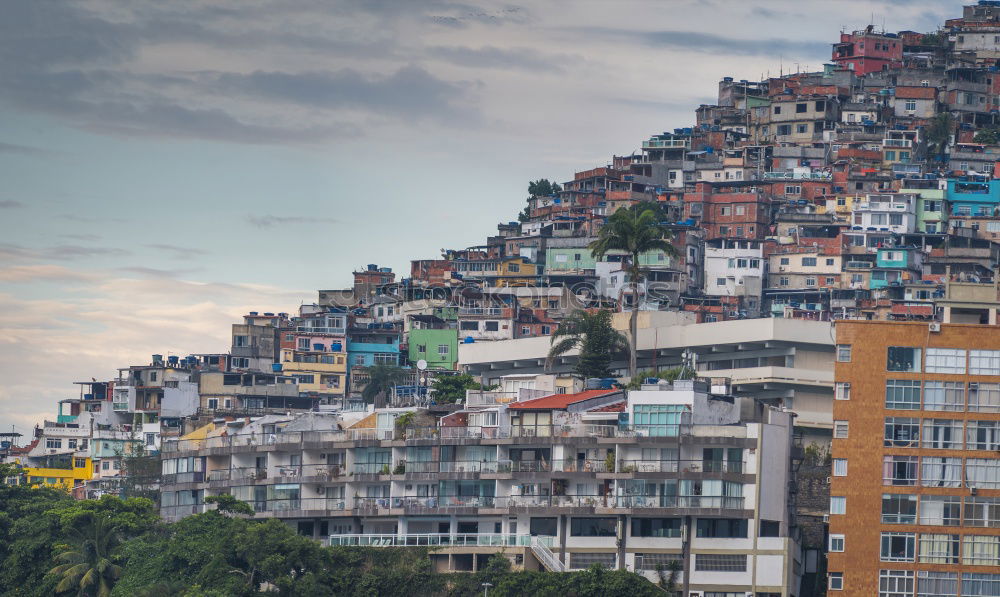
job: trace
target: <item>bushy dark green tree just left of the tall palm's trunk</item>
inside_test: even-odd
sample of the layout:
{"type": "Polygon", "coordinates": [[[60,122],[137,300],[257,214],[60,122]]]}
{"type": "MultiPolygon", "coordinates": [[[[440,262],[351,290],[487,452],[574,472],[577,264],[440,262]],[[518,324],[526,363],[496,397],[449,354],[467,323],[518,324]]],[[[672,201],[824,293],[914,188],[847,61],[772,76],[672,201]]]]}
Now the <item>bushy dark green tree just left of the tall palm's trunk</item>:
{"type": "Polygon", "coordinates": [[[580,350],[573,368],[576,375],[584,379],[611,377],[611,359],[614,353],[628,349],[628,339],[612,327],[611,311],[574,311],[552,334],[546,368],[574,348],[580,350]]]}

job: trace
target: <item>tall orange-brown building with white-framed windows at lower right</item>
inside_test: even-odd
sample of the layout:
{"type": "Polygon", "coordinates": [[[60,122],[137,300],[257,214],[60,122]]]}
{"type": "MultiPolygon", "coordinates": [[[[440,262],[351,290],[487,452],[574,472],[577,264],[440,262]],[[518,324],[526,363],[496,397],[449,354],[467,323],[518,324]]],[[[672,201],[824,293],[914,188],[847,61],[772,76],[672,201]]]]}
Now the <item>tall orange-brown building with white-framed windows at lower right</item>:
{"type": "Polygon", "coordinates": [[[836,323],[829,595],[1000,595],[1000,328],[836,323]]]}

